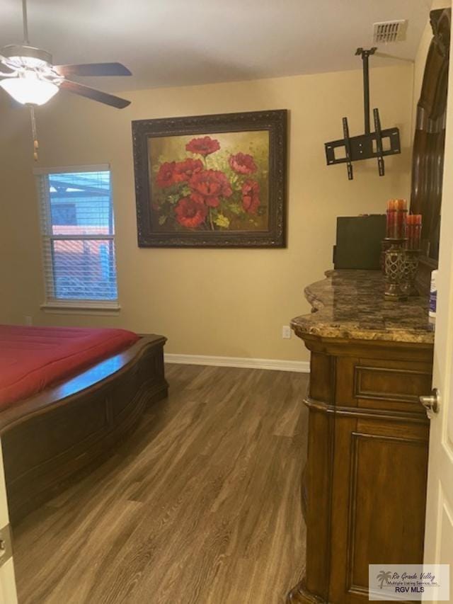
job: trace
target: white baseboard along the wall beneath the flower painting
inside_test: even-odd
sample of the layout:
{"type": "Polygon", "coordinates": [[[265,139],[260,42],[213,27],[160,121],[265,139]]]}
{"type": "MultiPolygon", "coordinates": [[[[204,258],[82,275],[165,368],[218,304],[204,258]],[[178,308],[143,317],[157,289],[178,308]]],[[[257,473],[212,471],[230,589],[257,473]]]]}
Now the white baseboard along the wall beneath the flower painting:
{"type": "Polygon", "coordinates": [[[246,369],[270,369],[276,371],[310,372],[310,363],[302,360],[271,358],[214,357],[205,355],[175,355],[165,353],[166,363],[179,365],[215,365],[216,367],[243,367],[246,369]]]}

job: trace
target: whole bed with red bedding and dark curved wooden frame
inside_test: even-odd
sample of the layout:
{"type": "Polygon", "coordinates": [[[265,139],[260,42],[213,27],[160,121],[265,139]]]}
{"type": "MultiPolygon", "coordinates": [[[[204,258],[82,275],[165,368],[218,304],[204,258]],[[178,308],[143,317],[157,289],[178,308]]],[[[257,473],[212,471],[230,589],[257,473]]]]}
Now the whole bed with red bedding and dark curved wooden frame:
{"type": "Polygon", "coordinates": [[[11,523],[101,462],[167,395],[163,336],[0,326],[0,435],[11,523]]]}

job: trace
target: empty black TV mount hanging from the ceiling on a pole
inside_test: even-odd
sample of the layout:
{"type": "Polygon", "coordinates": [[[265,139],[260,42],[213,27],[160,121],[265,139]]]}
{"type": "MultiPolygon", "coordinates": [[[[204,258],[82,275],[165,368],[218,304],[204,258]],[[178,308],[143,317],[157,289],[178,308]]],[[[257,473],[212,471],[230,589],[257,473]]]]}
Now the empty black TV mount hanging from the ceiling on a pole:
{"type": "Polygon", "coordinates": [[[365,134],[350,137],[348,118],[343,118],[343,138],[326,142],[327,165],[346,164],[348,166],[348,179],[352,181],[352,161],[360,159],[377,159],[379,176],[384,176],[384,156],[401,153],[398,128],[387,128],[381,130],[379,109],[373,109],[374,132],[370,132],[369,126],[369,67],[368,58],[374,55],[376,47],[369,50],[357,48],[356,55],[362,57],[363,63],[363,110],[365,117],[365,134]],[[336,151],[337,149],[337,151],[336,151]]]}

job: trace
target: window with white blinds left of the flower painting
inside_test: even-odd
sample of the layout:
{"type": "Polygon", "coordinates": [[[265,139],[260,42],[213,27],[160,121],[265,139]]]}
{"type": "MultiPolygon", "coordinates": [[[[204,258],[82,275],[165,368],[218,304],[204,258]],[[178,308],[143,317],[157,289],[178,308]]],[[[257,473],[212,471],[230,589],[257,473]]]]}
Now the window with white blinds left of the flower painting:
{"type": "Polygon", "coordinates": [[[36,171],[46,304],[117,307],[108,166],[36,171]]]}

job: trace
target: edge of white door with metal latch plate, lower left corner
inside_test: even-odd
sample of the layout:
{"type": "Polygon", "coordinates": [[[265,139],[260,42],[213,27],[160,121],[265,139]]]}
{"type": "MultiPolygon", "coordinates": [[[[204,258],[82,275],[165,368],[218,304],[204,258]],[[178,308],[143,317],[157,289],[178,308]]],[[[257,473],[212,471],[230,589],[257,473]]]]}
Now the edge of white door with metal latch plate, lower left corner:
{"type": "Polygon", "coordinates": [[[16,581],[14,579],[11,533],[9,531],[8,501],[0,442],[0,604],[16,604],[16,581]]]}

